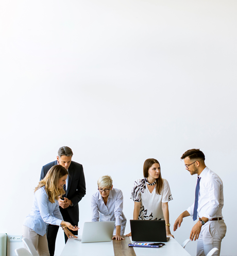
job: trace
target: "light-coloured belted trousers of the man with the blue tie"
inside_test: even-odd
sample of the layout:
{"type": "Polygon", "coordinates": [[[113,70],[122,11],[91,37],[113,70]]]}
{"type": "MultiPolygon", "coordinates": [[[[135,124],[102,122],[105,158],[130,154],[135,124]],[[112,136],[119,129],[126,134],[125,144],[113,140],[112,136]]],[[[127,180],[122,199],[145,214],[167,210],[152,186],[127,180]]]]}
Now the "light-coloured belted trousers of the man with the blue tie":
{"type": "Polygon", "coordinates": [[[206,256],[213,248],[218,248],[213,256],[219,256],[221,242],[226,235],[226,224],[224,220],[209,220],[201,227],[197,239],[197,256],[206,256]]]}

